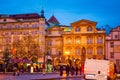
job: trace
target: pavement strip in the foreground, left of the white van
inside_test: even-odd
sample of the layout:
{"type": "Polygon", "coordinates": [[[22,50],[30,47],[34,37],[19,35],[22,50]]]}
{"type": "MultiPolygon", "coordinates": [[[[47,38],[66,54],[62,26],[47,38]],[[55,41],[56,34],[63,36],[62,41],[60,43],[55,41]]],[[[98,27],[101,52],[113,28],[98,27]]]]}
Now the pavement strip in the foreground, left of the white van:
{"type": "Polygon", "coordinates": [[[57,73],[49,73],[49,74],[41,74],[41,73],[33,73],[33,74],[20,74],[19,76],[13,76],[12,74],[0,74],[0,80],[82,80],[82,75],[69,75],[66,77],[66,74],[60,76],[57,73]]]}

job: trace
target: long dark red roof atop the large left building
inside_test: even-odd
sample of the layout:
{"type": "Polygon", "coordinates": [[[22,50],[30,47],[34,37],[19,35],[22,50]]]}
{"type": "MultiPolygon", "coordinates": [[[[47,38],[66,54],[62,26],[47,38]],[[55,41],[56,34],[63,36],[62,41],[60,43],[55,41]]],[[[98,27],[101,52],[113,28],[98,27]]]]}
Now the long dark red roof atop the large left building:
{"type": "Polygon", "coordinates": [[[29,13],[29,14],[9,15],[9,17],[15,18],[15,19],[38,19],[40,18],[40,15],[37,13],[29,13]]]}

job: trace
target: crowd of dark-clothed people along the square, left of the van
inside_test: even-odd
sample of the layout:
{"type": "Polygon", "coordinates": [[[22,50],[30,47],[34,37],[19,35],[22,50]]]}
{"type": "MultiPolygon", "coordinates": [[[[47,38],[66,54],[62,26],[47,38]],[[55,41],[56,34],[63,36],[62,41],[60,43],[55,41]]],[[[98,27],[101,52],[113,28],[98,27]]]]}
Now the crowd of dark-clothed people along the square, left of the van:
{"type": "MultiPolygon", "coordinates": [[[[55,67],[50,65],[50,64],[42,64],[42,65],[36,65],[35,67],[33,65],[28,65],[28,66],[19,66],[17,63],[11,65],[11,67],[8,68],[8,72],[13,72],[13,75],[20,75],[24,72],[53,72],[56,71],[55,67]],[[9,69],[10,68],[10,69],[9,69]]],[[[71,75],[78,75],[78,73],[81,75],[83,74],[83,67],[78,67],[78,66],[70,66],[70,65],[60,65],[59,72],[60,76],[63,75],[63,72],[66,72],[66,75],[69,76],[71,75]]],[[[0,72],[5,72],[4,69],[0,69],[0,72]]]]}

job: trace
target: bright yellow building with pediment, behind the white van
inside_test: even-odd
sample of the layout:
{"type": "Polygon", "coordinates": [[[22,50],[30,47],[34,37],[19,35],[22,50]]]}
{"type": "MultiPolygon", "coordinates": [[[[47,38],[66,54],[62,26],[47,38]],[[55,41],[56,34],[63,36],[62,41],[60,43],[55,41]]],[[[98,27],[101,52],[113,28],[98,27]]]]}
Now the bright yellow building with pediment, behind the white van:
{"type": "Polygon", "coordinates": [[[83,64],[85,58],[104,59],[105,31],[97,29],[96,25],[83,19],[71,23],[72,30],[62,33],[63,62],[83,64]]]}

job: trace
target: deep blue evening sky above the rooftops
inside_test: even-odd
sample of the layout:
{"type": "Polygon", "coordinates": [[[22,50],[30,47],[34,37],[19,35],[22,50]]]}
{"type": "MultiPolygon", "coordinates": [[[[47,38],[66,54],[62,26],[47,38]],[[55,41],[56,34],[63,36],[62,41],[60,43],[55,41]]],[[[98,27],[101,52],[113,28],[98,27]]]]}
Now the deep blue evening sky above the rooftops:
{"type": "Polygon", "coordinates": [[[120,0],[0,0],[0,14],[40,13],[42,6],[47,20],[54,14],[62,25],[81,19],[120,25],[120,0]]]}

